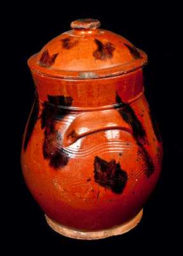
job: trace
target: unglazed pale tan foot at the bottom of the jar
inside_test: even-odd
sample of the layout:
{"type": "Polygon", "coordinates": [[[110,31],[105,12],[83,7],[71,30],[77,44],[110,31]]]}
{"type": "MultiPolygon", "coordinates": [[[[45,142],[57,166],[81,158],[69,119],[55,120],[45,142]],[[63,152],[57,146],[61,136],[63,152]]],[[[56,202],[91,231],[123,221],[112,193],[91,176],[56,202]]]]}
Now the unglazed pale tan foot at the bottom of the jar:
{"type": "Polygon", "coordinates": [[[92,240],[92,239],[102,239],[105,237],[110,236],[117,236],[122,235],[132,228],[135,228],[136,225],[140,222],[143,215],[143,209],[136,214],[131,220],[126,221],[122,225],[115,226],[112,228],[107,228],[103,230],[96,230],[96,231],[82,231],[77,229],[72,229],[66,226],[62,226],[61,224],[57,223],[54,220],[48,218],[45,214],[45,218],[47,220],[48,225],[54,229],[56,232],[61,234],[62,236],[71,237],[75,239],[83,239],[83,240],[92,240]]]}

